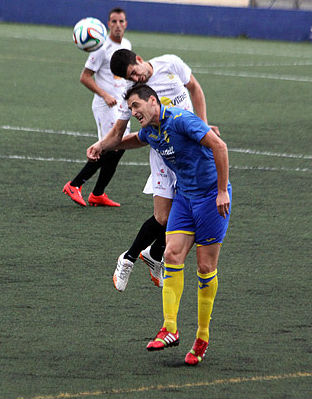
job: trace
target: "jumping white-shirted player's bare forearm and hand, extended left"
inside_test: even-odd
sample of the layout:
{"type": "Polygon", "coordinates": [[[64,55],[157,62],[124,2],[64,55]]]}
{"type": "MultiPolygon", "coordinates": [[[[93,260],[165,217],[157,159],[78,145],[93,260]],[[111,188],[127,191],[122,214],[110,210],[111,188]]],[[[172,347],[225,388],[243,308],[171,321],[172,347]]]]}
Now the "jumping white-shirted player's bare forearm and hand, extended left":
{"type": "Polygon", "coordinates": [[[97,161],[103,151],[114,150],[120,144],[127,127],[127,120],[118,119],[104,139],[97,141],[87,149],[89,161],[97,161]]]}

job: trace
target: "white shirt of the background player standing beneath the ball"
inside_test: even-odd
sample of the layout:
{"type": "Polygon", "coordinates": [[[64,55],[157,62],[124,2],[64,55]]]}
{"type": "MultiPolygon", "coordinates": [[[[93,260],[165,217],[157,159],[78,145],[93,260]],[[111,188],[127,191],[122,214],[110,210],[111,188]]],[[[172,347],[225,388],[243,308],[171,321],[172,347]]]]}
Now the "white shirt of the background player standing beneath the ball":
{"type": "MultiPolygon", "coordinates": [[[[121,43],[113,42],[108,37],[101,48],[90,53],[85,68],[95,72],[95,82],[108,94],[121,101],[127,82],[125,79],[114,76],[110,70],[110,60],[115,51],[120,49],[131,50],[131,43],[128,39],[123,38],[121,43]]],[[[93,105],[103,105],[105,101],[98,94],[94,94],[93,105]]]]}

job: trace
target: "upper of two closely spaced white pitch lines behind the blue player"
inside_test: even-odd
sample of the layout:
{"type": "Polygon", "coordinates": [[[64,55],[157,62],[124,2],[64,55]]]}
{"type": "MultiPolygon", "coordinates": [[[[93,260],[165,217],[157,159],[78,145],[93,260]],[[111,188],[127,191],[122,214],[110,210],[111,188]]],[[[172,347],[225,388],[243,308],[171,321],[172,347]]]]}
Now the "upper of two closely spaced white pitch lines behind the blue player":
{"type": "MultiPolygon", "coordinates": [[[[81,136],[81,137],[97,137],[95,134],[92,134],[92,133],[71,132],[71,131],[66,131],[66,130],[53,130],[53,129],[38,129],[38,128],[21,127],[21,126],[3,125],[3,126],[0,126],[0,129],[22,131],[22,132],[64,134],[64,135],[78,136],[78,137],[79,136],[81,136]]],[[[229,152],[239,152],[242,154],[252,154],[252,155],[264,155],[264,156],[279,157],[279,158],[312,159],[312,155],[287,154],[287,153],[278,153],[278,152],[270,152],[270,151],[258,151],[258,150],[252,150],[250,148],[229,148],[228,150],[229,150],[229,152]]]]}

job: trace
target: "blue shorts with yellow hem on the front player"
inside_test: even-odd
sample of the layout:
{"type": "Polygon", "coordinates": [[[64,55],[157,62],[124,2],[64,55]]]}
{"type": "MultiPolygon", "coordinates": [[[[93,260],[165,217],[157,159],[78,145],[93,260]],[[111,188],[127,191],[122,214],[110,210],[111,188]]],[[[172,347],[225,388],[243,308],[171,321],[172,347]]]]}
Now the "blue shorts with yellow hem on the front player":
{"type": "Polygon", "coordinates": [[[184,233],[194,235],[197,245],[222,243],[231,213],[232,187],[228,185],[230,196],[229,214],[224,218],[217,209],[218,190],[211,191],[201,198],[186,198],[177,194],[172,203],[166,234],[184,233]]]}

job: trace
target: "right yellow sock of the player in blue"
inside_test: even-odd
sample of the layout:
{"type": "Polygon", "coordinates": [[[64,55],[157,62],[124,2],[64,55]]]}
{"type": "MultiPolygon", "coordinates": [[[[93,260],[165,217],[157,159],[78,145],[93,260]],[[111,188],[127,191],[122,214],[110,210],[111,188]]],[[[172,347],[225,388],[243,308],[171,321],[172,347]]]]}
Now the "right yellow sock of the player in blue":
{"type": "Polygon", "coordinates": [[[198,277],[198,329],[196,338],[209,341],[209,323],[218,289],[217,269],[211,273],[197,272],[198,277]]]}

